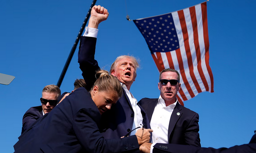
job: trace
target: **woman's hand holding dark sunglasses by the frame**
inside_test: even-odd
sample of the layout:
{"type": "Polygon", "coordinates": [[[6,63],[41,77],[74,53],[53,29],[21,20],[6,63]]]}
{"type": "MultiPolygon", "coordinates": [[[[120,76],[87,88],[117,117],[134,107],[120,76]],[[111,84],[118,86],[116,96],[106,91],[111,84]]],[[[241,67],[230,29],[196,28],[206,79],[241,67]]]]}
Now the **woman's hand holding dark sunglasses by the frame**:
{"type": "Polygon", "coordinates": [[[137,136],[138,144],[142,145],[143,143],[149,142],[150,132],[153,132],[152,129],[140,128],[135,135],[137,136]]]}

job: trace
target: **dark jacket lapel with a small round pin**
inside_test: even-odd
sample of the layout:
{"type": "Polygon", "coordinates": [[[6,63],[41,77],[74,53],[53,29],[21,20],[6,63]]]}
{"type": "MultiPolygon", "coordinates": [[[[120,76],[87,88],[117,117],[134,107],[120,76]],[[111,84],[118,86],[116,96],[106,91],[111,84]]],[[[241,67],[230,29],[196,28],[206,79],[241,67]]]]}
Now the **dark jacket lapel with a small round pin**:
{"type": "Polygon", "coordinates": [[[174,108],[174,110],[172,112],[172,115],[171,115],[171,118],[170,118],[170,122],[169,122],[169,127],[168,127],[168,143],[169,143],[170,135],[171,135],[171,133],[173,131],[173,128],[176,125],[176,123],[179,120],[181,115],[182,115],[182,108],[181,108],[179,102],[177,102],[177,104],[176,104],[176,106],[175,106],[175,108],[174,108]]]}

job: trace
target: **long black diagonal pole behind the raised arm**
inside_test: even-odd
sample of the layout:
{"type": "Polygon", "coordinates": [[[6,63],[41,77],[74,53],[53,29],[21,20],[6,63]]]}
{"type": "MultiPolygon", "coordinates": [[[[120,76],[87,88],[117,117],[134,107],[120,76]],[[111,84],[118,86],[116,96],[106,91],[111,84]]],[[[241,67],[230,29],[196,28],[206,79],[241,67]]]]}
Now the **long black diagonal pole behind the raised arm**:
{"type": "Polygon", "coordinates": [[[70,51],[70,54],[69,54],[69,56],[68,56],[68,60],[67,60],[65,66],[64,66],[64,68],[63,68],[63,70],[62,70],[62,73],[61,73],[61,75],[60,75],[59,81],[58,81],[58,83],[57,83],[57,86],[58,86],[58,87],[60,87],[60,85],[61,85],[61,83],[62,83],[62,81],[63,81],[63,78],[64,78],[64,76],[65,76],[65,74],[66,74],[66,72],[67,72],[67,69],[68,69],[68,66],[69,66],[69,64],[70,64],[70,61],[71,61],[71,59],[72,59],[72,57],[73,57],[73,55],[74,55],[74,52],[76,51],[77,44],[79,43],[81,33],[83,32],[83,30],[84,30],[84,28],[85,28],[85,25],[86,25],[86,23],[87,23],[87,21],[88,21],[90,15],[91,15],[91,9],[92,9],[92,7],[95,5],[96,1],[97,1],[97,0],[93,0],[93,1],[92,1],[92,5],[91,5],[91,7],[90,7],[90,9],[89,9],[89,11],[88,11],[88,13],[87,13],[87,16],[85,17],[85,19],[84,19],[84,21],[83,21],[82,27],[81,27],[81,29],[80,29],[80,31],[79,31],[79,33],[78,33],[78,36],[77,36],[77,38],[76,38],[76,41],[75,41],[75,43],[74,43],[74,45],[73,45],[73,47],[72,47],[72,49],[71,49],[71,51],[70,51]]]}

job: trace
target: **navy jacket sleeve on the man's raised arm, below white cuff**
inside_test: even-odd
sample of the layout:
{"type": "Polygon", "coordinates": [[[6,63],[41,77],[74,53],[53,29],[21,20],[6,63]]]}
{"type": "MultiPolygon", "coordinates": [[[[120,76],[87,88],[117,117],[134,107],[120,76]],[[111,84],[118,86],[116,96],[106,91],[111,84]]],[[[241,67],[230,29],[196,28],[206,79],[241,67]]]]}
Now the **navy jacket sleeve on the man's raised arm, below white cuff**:
{"type": "Polygon", "coordinates": [[[78,63],[88,91],[96,81],[95,71],[100,69],[98,62],[94,60],[96,41],[97,38],[94,37],[80,37],[78,63]]]}

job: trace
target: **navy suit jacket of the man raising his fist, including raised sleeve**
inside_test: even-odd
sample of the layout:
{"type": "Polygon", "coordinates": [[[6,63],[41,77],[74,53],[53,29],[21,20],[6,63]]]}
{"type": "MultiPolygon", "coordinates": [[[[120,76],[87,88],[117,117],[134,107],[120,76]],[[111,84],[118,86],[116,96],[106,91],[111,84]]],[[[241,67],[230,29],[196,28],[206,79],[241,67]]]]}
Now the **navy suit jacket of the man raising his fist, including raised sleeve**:
{"type": "MultiPolygon", "coordinates": [[[[80,39],[78,63],[88,86],[87,90],[90,90],[96,80],[95,71],[100,69],[98,62],[94,60],[96,40],[93,37],[83,36],[80,39]]],[[[140,105],[139,107],[143,116],[144,128],[150,128],[145,111],[140,105]]],[[[131,102],[123,91],[123,96],[115,105],[112,105],[111,110],[102,114],[101,132],[105,138],[120,138],[132,130],[133,120],[134,111],[131,102]]]]}

